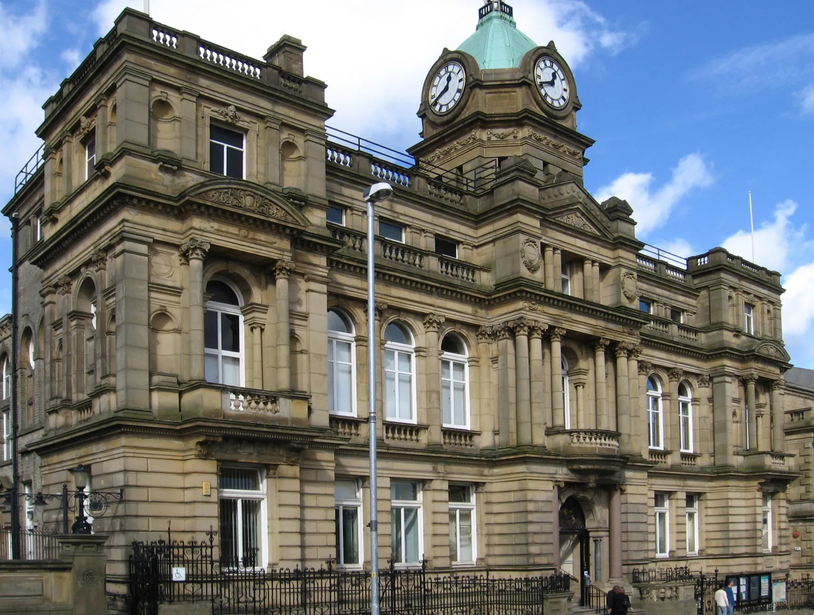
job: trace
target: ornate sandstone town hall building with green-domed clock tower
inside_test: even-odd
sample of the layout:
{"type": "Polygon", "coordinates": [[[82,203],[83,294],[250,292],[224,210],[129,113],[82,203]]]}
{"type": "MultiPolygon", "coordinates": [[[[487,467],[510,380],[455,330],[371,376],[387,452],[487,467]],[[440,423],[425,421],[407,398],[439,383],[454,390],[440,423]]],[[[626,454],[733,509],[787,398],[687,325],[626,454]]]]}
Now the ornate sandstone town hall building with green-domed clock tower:
{"type": "Polygon", "coordinates": [[[58,491],[81,462],[124,487],[94,519],[110,591],[168,522],[213,527],[230,563],[369,567],[371,346],[379,565],[602,583],[810,565],[788,520],[810,450],[786,447],[780,275],[652,251],[628,203],[597,203],[574,76],[512,12],[488,2],[427,67],[401,159],[326,129],[299,40],[252,59],[130,9],[46,101],[42,159],[4,210],[20,479],[58,491]],[[394,194],[370,340],[374,181],[394,194]]]}

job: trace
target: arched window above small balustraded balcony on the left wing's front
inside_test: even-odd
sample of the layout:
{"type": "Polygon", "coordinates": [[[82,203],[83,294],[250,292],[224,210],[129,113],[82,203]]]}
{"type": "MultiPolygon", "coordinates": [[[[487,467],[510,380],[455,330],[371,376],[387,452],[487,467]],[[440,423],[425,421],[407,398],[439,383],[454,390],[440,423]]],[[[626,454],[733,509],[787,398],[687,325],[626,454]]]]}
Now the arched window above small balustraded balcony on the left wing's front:
{"type": "Polygon", "coordinates": [[[240,294],[225,280],[206,285],[211,297],[204,314],[204,373],[207,382],[243,386],[243,314],[240,294]]]}

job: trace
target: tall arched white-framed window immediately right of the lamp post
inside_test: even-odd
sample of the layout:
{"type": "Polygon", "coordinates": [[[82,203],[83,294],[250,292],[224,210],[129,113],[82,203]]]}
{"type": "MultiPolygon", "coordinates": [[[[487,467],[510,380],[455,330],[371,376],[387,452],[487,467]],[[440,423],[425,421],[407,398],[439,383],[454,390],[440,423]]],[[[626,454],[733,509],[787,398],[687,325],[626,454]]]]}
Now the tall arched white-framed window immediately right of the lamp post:
{"type": "Polygon", "coordinates": [[[384,406],[388,421],[415,422],[413,336],[400,322],[384,329],[384,406]]]}

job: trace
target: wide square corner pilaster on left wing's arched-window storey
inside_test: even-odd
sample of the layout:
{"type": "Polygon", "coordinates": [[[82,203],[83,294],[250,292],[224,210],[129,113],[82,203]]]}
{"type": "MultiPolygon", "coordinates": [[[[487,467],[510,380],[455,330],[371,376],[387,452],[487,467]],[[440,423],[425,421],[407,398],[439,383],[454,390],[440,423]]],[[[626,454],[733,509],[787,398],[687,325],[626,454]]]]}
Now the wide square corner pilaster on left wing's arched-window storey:
{"type": "Polygon", "coordinates": [[[150,278],[151,237],[120,234],[116,260],[116,407],[150,410],[150,278]]]}

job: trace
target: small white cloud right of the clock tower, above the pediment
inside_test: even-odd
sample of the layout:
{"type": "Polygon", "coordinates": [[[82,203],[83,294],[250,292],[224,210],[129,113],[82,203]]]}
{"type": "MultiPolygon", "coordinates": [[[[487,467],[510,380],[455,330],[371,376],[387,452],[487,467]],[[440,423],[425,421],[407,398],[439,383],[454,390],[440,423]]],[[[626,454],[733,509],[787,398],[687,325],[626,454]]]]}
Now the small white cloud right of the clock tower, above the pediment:
{"type": "Polygon", "coordinates": [[[652,173],[627,172],[602,186],[595,196],[600,203],[611,196],[624,198],[633,208],[633,217],[638,223],[637,236],[643,238],[667,223],[672,208],[681,198],[694,188],[706,188],[713,181],[711,164],[695,153],[679,160],[670,181],[658,190],[652,186],[652,173]]]}

